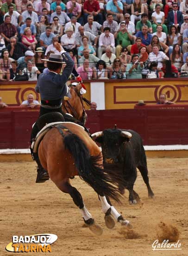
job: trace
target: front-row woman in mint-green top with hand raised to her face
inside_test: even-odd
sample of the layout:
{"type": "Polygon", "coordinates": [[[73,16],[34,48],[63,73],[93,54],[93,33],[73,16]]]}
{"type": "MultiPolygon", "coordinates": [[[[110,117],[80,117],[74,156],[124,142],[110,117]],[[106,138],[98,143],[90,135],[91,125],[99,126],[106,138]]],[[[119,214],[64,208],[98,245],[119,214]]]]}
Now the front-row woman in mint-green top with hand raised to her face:
{"type": "Polygon", "coordinates": [[[126,67],[127,79],[142,79],[143,62],[138,63],[138,54],[132,55],[132,63],[126,67]]]}

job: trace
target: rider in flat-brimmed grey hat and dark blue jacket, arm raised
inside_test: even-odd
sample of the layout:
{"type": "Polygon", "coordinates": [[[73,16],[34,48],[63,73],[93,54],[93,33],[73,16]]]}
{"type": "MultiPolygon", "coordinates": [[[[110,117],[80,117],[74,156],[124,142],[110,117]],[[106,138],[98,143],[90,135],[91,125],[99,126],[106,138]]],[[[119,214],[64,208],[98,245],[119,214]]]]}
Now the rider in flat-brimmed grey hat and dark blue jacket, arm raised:
{"type": "MultiPolygon", "coordinates": [[[[77,120],[75,120],[75,118],[71,116],[66,116],[61,108],[63,97],[68,93],[68,87],[66,82],[69,79],[75,63],[70,57],[69,53],[64,51],[61,44],[55,42],[55,47],[60,54],[50,54],[49,60],[45,60],[47,61],[47,67],[50,72],[49,74],[39,75],[35,88],[35,90],[40,93],[41,96],[41,107],[39,116],[50,112],[59,112],[64,116],[65,121],[76,121],[77,123],[79,123],[77,120]],[[65,63],[66,66],[63,69],[63,74],[60,75],[63,63],[65,63]]],[[[38,131],[39,129],[36,122],[31,132],[31,142],[36,137],[38,131]]],[[[48,173],[42,167],[38,157],[38,153],[33,153],[31,149],[31,154],[33,159],[38,164],[36,183],[45,182],[49,179],[48,173]]]]}

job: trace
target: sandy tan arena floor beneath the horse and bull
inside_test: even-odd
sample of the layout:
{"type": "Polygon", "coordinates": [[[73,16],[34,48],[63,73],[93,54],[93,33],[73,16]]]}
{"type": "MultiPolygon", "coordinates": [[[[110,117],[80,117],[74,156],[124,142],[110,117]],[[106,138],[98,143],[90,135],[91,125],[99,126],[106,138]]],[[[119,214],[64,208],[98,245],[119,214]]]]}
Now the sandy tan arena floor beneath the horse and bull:
{"type": "Polygon", "coordinates": [[[79,177],[71,183],[81,192],[95,222],[103,228],[102,236],[94,236],[83,227],[79,209],[54,183],[35,183],[34,162],[0,163],[0,256],[13,255],[5,250],[13,235],[40,233],[58,236],[51,245],[51,256],[187,256],[188,158],[148,159],[148,168],[155,199],[147,197],[138,172],[135,190],[144,204],[129,205],[128,192],[122,205],[114,203],[132,223],[134,239],[129,239],[119,223],[112,230],[106,228],[97,195],[79,177]],[[152,251],[152,243],[162,231],[160,222],[178,229],[182,250],[152,251]]]}

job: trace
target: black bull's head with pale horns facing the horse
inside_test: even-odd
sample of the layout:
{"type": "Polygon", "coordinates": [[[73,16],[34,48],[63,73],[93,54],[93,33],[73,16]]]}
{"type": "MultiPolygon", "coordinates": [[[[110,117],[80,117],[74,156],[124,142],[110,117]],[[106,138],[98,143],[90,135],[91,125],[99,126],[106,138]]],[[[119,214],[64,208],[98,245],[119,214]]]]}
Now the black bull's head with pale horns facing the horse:
{"type": "Polygon", "coordinates": [[[91,136],[94,141],[99,142],[101,145],[104,163],[116,164],[121,162],[120,153],[122,147],[125,147],[132,134],[120,129],[106,129],[91,136]]]}

